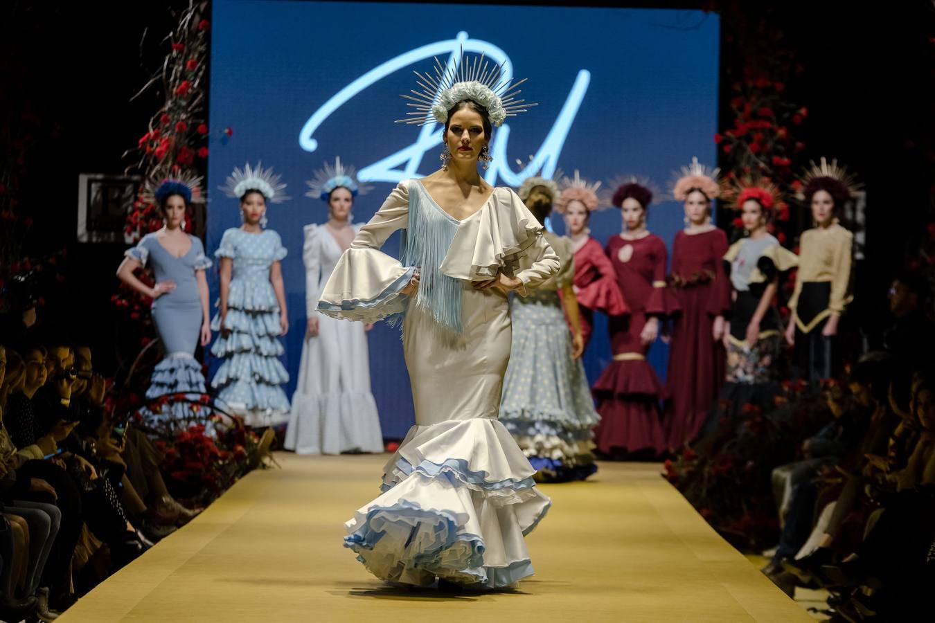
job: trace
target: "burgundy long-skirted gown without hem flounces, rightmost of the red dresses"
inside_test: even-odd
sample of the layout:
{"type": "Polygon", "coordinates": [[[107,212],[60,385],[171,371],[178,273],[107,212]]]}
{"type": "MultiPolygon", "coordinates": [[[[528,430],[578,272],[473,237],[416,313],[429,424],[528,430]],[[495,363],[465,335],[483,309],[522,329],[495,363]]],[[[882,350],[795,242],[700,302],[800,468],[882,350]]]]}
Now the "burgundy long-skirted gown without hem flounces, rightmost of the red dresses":
{"type": "Polygon", "coordinates": [[[724,383],[724,345],[715,342],[712,333],[714,318],[730,309],[726,252],[727,236],[721,229],[675,234],[669,283],[681,313],[672,324],[669,348],[669,447],[681,447],[698,436],[724,383]]]}

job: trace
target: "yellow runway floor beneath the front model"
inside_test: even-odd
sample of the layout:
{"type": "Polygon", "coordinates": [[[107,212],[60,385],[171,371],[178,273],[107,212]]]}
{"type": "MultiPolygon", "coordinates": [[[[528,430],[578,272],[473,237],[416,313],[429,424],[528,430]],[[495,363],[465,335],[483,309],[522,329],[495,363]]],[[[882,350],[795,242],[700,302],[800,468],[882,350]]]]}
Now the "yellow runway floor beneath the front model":
{"type": "Polygon", "coordinates": [[[536,574],[507,593],[391,588],[341,546],[384,456],[296,457],[249,474],[80,600],[77,621],[810,621],[640,463],[545,485],[536,574]]]}

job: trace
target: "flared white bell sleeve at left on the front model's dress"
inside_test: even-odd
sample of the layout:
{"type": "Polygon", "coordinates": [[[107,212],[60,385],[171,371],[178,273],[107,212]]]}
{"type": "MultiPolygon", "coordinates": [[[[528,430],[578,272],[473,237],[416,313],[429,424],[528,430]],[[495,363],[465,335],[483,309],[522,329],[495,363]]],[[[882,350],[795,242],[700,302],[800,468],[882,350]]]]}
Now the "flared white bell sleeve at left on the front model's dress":
{"type": "Polygon", "coordinates": [[[318,311],[331,318],[376,322],[406,309],[402,291],[415,266],[404,266],[380,248],[409,224],[409,186],[400,182],[373,218],[354,237],[328,277],[318,311]]]}

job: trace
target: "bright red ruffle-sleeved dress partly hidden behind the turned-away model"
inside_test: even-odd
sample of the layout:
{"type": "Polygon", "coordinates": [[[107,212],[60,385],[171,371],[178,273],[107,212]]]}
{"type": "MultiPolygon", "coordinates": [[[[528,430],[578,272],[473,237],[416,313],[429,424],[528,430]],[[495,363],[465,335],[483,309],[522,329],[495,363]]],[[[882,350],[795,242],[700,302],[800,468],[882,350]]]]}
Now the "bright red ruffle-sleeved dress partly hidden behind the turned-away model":
{"type": "Polygon", "coordinates": [[[628,311],[624,295],[617,285],[611,261],[604,255],[600,243],[589,237],[582,248],[575,251],[574,285],[581,312],[584,346],[591,339],[594,327],[594,312],[602,311],[608,316],[620,316],[628,311]]]}

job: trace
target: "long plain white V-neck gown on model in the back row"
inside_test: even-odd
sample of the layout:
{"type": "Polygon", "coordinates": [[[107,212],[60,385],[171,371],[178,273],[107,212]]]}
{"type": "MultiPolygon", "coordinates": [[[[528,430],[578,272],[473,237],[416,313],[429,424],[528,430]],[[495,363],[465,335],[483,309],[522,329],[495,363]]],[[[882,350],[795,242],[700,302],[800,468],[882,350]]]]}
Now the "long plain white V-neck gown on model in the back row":
{"type": "Polygon", "coordinates": [[[305,226],[306,303],[309,318],[318,316],[319,331],[307,335],[302,346],[285,446],[296,454],[382,452],[364,326],[316,311],[324,282],[341,257],[338,241],[327,230],[305,226]]]}

